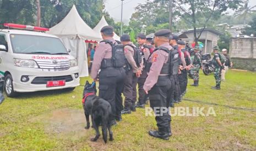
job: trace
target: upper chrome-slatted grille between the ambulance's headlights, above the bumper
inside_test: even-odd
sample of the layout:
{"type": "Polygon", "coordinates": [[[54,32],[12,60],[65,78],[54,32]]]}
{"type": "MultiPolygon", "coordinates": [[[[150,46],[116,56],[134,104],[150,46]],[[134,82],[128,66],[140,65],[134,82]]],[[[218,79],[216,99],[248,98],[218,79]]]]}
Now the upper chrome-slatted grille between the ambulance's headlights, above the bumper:
{"type": "Polygon", "coordinates": [[[36,61],[41,69],[62,69],[67,70],[70,68],[69,61],[36,61]]]}

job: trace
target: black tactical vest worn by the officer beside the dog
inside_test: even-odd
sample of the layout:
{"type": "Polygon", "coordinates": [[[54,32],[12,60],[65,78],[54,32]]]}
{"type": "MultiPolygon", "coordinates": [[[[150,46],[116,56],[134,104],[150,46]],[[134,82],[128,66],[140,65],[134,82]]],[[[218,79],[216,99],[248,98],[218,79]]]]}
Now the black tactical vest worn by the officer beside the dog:
{"type": "Polygon", "coordinates": [[[112,48],[112,57],[111,59],[103,59],[101,61],[100,68],[114,67],[121,68],[126,65],[126,57],[124,56],[124,47],[121,43],[113,43],[111,40],[102,40],[100,43],[105,42],[110,44],[112,48]]]}

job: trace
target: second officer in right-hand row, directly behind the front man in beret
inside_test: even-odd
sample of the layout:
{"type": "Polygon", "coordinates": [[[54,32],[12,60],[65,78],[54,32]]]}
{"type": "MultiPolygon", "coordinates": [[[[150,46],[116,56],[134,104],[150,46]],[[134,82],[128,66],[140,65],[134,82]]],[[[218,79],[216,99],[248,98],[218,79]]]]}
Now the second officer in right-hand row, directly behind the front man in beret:
{"type": "MultiPolygon", "coordinates": [[[[178,60],[178,67],[179,67],[179,70],[180,70],[181,66],[179,66],[179,65],[181,65],[182,61],[184,63],[185,60],[184,60],[184,56],[182,56],[181,55],[182,53],[180,53],[180,51],[179,51],[178,44],[177,44],[178,40],[179,40],[178,36],[176,36],[176,35],[170,36],[170,45],[173,48],[172,49],[172,54],[173,55],[178,55],[178,59],[179,59],[178,60]],[[179,56],[181,56],[181,57],[179,57],[179,56]]],[[[184,64],[186,64],[186,63],[184,63],[184,64]]],[[[173,72],[173,78],[175,80],[175,91],[173,92],[173,95],[172,95],[172,102],[178,103],[178,102],[181,101],[181,89],[180,89],[179,80],[178,80],[178,68],[177,68],[177,71],[173,72]]]]}

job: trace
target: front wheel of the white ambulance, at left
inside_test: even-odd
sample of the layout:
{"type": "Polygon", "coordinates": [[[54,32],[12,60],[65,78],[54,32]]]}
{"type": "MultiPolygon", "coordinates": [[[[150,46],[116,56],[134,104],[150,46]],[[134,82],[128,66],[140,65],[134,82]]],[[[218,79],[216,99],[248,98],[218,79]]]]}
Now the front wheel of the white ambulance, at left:
{"type": "Polygon", "coordinates": [[[12,75],[7,74],[4,77],[4,91],[8,97],[15,97],[17,96],[17,92],[13,90],[13,78],[12,75]]]}

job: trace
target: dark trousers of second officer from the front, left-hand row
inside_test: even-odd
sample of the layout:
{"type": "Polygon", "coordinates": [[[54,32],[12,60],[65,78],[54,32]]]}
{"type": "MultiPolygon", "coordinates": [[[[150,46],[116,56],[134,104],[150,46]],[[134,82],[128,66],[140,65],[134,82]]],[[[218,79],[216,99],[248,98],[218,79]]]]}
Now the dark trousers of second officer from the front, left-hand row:
{"type": "Polygon", "coordinates": [[[123,89],[123,95],[125,97],[124,108],[130,109],[130,107],[132,107],[132,105],[135,104],[135,102],[136,102],[137,80],[138,80],[138,78],[136,77],[135,73],[133,73],[132,69],[127,72],[126,78],[124,79],[124,89],[123,89]],[[134,90],[134,88],[135,88],[135,90],[134,90]]]}

